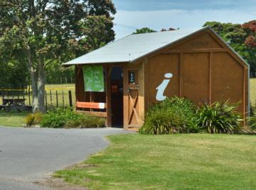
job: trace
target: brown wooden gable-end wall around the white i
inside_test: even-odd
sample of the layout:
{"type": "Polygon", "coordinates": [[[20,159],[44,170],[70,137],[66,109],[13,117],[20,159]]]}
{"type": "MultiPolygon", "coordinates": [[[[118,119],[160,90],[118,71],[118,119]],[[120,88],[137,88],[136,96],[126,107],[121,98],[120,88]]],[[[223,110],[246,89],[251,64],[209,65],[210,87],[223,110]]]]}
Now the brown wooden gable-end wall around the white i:
{"type": "Polygon", "coordinates": [[[213,34],[202,32],[147,57],[145,64],[145,108],[156,102],[156,87],[164,74],[174,76],[164,91],[200,106],[204,102],[240,101],[238,111],[247,111],[247,66],[238,61],[213,34]]]}

